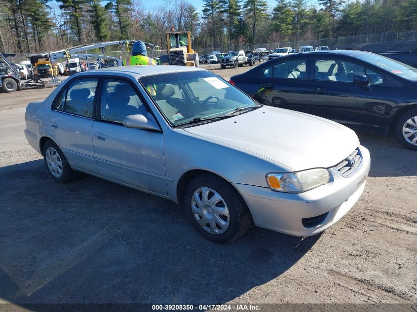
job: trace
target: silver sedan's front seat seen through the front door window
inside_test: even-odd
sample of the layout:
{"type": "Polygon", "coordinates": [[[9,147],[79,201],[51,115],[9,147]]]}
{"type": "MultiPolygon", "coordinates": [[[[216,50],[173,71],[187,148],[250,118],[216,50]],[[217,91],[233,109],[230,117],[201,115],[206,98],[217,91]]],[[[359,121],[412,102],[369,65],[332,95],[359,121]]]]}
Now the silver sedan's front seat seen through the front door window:
{"type": "Polygon", "coordinates": [[[107,96],[107,106],[104,120],[123,123],[123,118],[128,115],[136,115],[140,111],[129,105],[130,96],[126,92],[114,91],[107,96]]]}

